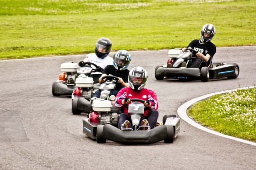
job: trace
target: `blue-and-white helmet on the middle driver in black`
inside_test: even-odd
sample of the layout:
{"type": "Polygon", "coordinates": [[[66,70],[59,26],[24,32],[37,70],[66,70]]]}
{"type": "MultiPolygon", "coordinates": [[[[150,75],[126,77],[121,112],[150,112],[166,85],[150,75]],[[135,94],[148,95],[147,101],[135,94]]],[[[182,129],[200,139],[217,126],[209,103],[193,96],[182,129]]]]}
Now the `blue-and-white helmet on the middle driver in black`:
{"type": "Polygon", "coordinates": [[[114,55],[113,65],[118,70],[125,70],[131,62],[131,55],[126,50],[119,50],[114,55]]]}

